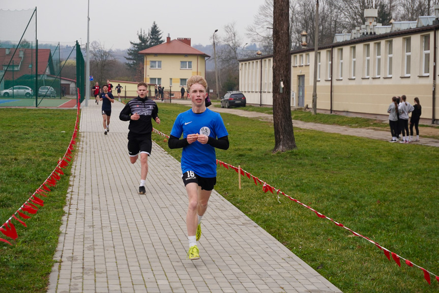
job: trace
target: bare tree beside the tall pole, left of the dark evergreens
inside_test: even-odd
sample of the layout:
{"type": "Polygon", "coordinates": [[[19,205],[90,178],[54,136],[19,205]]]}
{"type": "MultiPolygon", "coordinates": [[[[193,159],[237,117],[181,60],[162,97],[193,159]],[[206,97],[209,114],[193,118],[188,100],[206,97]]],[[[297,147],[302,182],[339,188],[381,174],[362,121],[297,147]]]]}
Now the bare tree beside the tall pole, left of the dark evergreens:
{"type": "Polygon", "coordinates": [[[100,41],[93,41],[90,45],[90,72],[96,76],[96,81],[103,84],[107,79],[111,79],[110,70],[115,64],[113,51],[105,49],[105,44],[100,41]]]}

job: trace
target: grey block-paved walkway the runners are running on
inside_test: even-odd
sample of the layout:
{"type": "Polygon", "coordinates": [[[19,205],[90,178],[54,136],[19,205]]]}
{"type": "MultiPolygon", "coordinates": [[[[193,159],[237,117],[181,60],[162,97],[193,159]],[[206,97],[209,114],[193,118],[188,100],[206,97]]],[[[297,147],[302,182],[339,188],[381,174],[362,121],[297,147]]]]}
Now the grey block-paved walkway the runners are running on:
{"type": "Polygon", "coordinates": [[[48,292],[341,292],[215,191],[201,259],[186,260],[180,163],[153,143],[147,194],[138,195],[123,105],[114,102],[107,136],[100,106],[82,108],[48,292]]]}

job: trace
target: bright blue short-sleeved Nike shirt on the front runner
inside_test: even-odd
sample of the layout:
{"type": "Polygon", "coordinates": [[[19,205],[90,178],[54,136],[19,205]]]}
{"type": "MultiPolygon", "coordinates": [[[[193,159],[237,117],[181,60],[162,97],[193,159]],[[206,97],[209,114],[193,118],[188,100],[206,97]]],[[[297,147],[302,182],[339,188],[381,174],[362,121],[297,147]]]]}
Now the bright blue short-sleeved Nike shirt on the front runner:
{"type": "MultiPolygon", "coordinates": [[[[191,134],[202,134],[215,139],[228,136],[221,115],[206,109],[203,113],[195,114],[192,109],[180,113],[172,126],[171,135],[186,138],[191,134]]],[[[182,172],[194,171],[197,175],[206,178],[216,177],[215,148],[198,141],[183,148],[182,172]]]]}

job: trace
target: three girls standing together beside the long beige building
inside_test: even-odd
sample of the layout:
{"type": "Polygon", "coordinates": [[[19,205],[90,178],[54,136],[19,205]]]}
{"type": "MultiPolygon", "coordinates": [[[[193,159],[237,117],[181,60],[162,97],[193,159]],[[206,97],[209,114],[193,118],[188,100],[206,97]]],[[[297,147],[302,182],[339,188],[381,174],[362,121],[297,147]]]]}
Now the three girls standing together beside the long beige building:
{"type": "Polygon", "coordinates": [[[389,113],[390,132],[392,134],[391,143],[410,143],[412,141],[419,141],[419,120],[421,117],[421,103],[416,97],[415,105],[407,102],[407,97],[392,97],[392,103],[387,109],[389,113]],[[410,118],[410,132],[408,132],[408,114],[412,113],[410,118]],[[413,138],[413,127],[416,129],[416,139],[413,138]],[[402,134],[402,138],[401,138],[402,134]]]}

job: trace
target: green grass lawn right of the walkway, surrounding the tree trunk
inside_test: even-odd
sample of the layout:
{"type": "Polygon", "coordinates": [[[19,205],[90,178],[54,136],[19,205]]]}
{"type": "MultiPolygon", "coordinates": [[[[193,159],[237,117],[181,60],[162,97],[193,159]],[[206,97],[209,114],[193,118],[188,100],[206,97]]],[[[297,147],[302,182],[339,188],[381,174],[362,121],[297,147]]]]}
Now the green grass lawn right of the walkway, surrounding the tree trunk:
{"type": "MultiPolygon", "coordinates": [[[[160,104],[169,135],[182,105],[160,104]]],[[[241,109],[241,108],[240,108],[241,109]]],[[[323,114],[321,114],[323,115],[323,114]]],[[[319,116],[319,115],[318,115],[319,116]]],[[[230,148],[221,161],[241,167],[396,254],[439,274],[439,152],[295,128],[297,150],[273,154],[273,124],[222,114],[230,148]]],[[[170,154],[163,138],[153,138],[170,154]]],[[[218,167],[215,189],[343,292],[437,292],[423,272],[401,268],[365,239],[283,197],[262,192],[235,171],[218,167]]]]}

